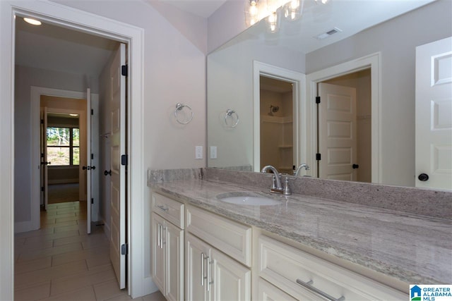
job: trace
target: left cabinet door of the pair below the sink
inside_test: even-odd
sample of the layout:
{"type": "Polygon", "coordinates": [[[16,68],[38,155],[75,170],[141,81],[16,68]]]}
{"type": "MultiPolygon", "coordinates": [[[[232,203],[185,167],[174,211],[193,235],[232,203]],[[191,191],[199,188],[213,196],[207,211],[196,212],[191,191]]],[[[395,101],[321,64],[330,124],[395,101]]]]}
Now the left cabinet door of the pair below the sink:
{"type": "Polygon", "coordinates": [[[186,234],[186,300],[210,300],[207,283],[207,261],[211,248],[190,233],[186,234]]]}

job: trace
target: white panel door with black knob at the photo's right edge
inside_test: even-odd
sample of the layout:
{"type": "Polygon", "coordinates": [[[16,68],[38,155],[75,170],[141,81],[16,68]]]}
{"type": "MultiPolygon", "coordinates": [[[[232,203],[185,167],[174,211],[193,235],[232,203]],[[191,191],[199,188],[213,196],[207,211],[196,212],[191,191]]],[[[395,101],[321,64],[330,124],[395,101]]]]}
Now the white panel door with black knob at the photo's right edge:
{"type": "Polygon", "coordinates": [[[452,37],[416,47],[416,187],[452,189],[452,37]]]}

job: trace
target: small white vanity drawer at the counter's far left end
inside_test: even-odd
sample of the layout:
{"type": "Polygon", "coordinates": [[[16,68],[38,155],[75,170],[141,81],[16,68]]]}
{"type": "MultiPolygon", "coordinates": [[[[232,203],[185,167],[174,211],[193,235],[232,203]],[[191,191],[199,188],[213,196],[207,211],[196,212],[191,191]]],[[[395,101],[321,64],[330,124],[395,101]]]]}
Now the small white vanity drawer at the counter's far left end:
{"type": "Polygon", "coordinates": [[[153,193],[152,209],[156,214],[173,223],[174,226],[184,228],[184,204],[181,202],[165,197],[165,195],[153,193]]]}

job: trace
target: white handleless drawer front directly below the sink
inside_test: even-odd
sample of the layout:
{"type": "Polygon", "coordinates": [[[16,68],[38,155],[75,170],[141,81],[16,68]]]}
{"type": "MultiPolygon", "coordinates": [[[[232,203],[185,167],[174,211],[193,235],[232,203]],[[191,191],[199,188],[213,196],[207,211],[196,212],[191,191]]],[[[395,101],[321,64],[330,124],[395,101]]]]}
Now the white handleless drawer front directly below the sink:
{"type": "Polygon", "coordinates": [[[186,229],[237,262],[251,266],[251,227],[187,206],[186,229]]]}

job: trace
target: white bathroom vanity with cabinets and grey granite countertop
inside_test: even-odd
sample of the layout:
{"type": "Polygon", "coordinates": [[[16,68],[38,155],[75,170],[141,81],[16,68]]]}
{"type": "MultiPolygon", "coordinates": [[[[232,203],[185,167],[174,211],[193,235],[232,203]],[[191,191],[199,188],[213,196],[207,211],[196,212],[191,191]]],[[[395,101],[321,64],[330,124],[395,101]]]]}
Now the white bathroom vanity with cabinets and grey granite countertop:
{"type": "Polygon", "coordinates": [[[152,271],[167,300],[407,300],[410,284],[452,283],[450,219],[250,184],[150,184],[152,271]],[[248,193],[279,203],[220,199],[248,193]]]}

